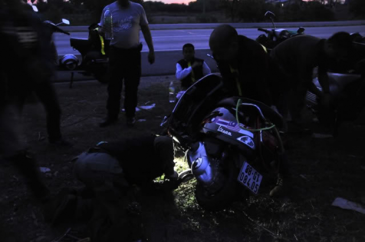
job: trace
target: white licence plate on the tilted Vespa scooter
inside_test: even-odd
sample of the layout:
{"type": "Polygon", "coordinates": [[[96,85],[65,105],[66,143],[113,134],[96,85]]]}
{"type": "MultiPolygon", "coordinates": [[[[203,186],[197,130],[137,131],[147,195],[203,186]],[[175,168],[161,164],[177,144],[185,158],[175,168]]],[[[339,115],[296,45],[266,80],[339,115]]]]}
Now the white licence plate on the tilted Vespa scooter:
{"type": "Polygon", "coordinates": [[[238,182],[242,183],[249,190],[257,194],[261,181],[262,175],[258,173],[248,162],[245,162],[238,175],[238,182]]]}

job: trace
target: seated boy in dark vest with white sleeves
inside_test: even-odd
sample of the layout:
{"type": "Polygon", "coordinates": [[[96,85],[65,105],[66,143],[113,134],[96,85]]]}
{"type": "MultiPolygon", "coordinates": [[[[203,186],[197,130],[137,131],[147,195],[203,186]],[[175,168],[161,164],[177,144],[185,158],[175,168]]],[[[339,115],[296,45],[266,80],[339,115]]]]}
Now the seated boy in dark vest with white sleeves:
{"type": "Polygon", "coordinates": [[[204,60],[195,58],[194,49],[195,48],[193,44],[190,43],[184,44],[183,45],[184,58],[176,63],[175,76],[176,79],[181,81],[181,92],[185,91],[187,88],[189,88],[191,85],[193,85],[193,83],[201,79],[203,76],[206,76],[211,73],[208,65],[204,62],[204,60]]]}

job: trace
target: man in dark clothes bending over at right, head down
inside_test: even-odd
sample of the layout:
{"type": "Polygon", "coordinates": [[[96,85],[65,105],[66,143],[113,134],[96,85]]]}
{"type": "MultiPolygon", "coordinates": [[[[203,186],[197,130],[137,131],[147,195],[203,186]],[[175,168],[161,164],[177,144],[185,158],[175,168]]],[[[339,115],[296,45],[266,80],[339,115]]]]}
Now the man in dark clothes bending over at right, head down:
{"type": "Polygon", "coordinates": [[[339,32],[328,40],[309,35],[296,36],[280,43],[272,50],[271,58],[280,66],[292,89],[294,100],[290,102],[291,107],[289,107],[292,121],[299,121],[305,95],[309,89],[320,97],[322,105],[329,106],[327,71],[331,67],[338,66],[338,63],[346,62],[351,52],[351,44],[350,35],[339,32]],[[318,81],[322,86],[322,92],[312,84],[315,67],[318,67],[318,81]]]}

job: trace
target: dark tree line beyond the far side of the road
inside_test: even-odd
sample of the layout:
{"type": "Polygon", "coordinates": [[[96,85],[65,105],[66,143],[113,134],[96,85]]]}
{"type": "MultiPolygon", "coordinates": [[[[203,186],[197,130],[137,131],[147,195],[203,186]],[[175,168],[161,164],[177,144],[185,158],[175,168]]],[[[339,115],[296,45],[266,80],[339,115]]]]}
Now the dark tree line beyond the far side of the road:
{"type": "MultiPolygon", "coordinates": [[[[37,0],[39,12],[44,18],[58,21],[64,15],[84,16],[87,22],[98,22],[103,8],[115,0],[37,0]]],[[[214,13],[224,12],[232,22],[260,22],[267,21],[264,18],[266,11],[276,14],[276,21],[326,21],[335,20],[334,8],[343,0],[300,1],[282,6],[266,3],[265,0],[196,0],[188,4],[165,4],[162,1],[133,0],[142,4],[147,17],[156,13],[164,14],[197,14],[201,22],[210,22],[214,19],[214,13]],[[210,17],[209,17],[210,16],[210,17]]],[[[354,17],[365,17],[365,0],[346,0],[349,11],[354,17]]],[[[198,19],[198,18],[197,18],[198,19]]],[[[87,24],[84,23],[84,24],[87,24]]]]}

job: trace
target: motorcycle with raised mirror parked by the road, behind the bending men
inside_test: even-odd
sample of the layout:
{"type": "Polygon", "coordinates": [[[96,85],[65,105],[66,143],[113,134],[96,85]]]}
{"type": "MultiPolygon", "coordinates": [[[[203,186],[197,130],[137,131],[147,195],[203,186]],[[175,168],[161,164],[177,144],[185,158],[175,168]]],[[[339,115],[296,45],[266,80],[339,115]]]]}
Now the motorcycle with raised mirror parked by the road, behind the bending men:
{"type": "Polygon", "coordinates": [[[260,43],[261,45],[265,46],[269,51],[273,49],[276,45],[280,44],[284,40],[298,36],[298,35],[304,35],[305,28],[299,27],[297,31],[290,31],[286,29],[276,29],[274,24],[274,13],[268,11],[265,13],[265,17],[269,17],[271,19],[271,22],[273,23],[273,28],[271,30],[258,28],[258,31],[262,31],[265,34],[259,35],[256,38],[256,41],[260,43]]]}

